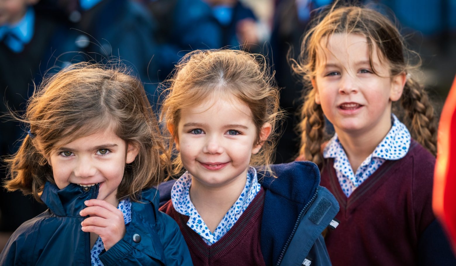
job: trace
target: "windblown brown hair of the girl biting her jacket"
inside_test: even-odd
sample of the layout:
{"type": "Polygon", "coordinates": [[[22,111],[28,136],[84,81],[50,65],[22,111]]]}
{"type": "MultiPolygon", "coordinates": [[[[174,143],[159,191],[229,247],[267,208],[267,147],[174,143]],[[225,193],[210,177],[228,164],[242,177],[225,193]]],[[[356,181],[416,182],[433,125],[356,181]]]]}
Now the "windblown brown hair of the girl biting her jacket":
{"type": "Polygon", "coordinates": [[[46,181],[55,184],[47,163],[59,141],[71,142],[106,128],[134,145],[139,153],[125,165],[118,199],[137,201],[141,189],[163,179],[166,160],[155,114],[141,82],[119,65],[78,63],[45,80],[28,101],[25,116],[30,134],[9,163],[9,190],[21,189],[36,200],[46,181]],[[32,137],[33,136],[33,137],[32,137]]]}

